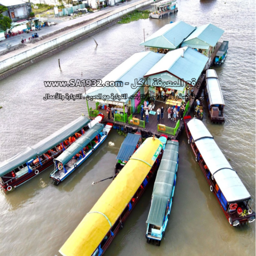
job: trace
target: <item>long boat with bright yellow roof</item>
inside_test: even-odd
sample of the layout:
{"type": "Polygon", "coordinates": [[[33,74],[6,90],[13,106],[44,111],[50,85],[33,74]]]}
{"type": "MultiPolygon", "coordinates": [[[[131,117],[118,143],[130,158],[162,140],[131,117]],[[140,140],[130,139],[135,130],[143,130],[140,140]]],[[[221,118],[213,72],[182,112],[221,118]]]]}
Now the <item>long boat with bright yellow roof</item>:
{"type": "Polygon", "coordinates": [[[60,248],[61,255],[99,256],[106,251],[156,173],[162,148],[153,137],[141,144],[60,248]]]}

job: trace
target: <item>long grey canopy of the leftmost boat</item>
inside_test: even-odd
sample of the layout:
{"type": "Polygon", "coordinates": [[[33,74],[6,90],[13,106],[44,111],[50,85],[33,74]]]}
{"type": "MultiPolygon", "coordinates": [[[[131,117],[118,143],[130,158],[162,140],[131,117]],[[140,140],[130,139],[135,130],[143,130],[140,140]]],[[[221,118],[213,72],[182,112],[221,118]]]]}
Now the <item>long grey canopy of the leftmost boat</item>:
{"type": "Polygon", "coordinates": [[[44,140],[41,140],[34,146],[25,148],[22,152],[0,164],[0,177],[11,172],[11,170],[22,165],[23,163],[26,163],[27,161],[35,158],[36,156],[50,150],[55,145],[69,138],[75,132],[81,130],[82,127],[86,126],[89,122],[90,120],[86,116],[80,116],[73,122],[62,127],[57,132],[48,136],[44,140]]]}

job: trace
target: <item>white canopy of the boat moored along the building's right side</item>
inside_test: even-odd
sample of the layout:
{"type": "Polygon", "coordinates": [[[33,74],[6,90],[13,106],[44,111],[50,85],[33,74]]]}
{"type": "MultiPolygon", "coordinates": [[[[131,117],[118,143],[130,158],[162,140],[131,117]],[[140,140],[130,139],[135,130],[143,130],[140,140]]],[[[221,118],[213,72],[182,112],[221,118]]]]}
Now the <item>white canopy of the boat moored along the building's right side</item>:
{"type": "Polygon", "coordinates": [[[214,69],[206,71],[206,88],[210,105],[225,105],[219,79],[214,69]]]}

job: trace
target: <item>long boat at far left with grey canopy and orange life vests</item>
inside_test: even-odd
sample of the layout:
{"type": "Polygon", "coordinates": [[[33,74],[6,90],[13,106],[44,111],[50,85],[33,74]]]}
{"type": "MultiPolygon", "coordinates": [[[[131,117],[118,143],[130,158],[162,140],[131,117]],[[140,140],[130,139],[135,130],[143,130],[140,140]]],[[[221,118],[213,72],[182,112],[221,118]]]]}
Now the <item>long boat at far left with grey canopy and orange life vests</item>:
{"type": "MultiPolygon", "coordinates": [[[[103,117],[101,115],[98,118],[103,117]]],[[[90,126],[90,119],[81,116],[44,140],[1,163],[1,188],[5,192],[11,191],[50,167],[53,159],[79,138],[88,129],[88,125],[90,126]]]]}

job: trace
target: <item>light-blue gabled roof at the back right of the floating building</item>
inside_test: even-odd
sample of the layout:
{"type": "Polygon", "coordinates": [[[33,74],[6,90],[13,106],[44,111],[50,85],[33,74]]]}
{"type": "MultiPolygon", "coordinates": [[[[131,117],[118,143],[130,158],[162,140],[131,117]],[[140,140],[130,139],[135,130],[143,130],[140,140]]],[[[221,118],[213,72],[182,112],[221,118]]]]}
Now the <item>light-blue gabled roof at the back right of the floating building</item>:
{"type": "MultiPolygon", "coordinates": [[[[212,47],[216,46],[218,40],[224,33],[224,30],[212,25],[212,24],[206,24],[201,27],[198,27],[191,35],[189,35],[183,42],[182,46],[190,46],[189,41],[197,38],[199,41],[198,44],[202,44],[204,42],[205,44],[208,44],[212,47]]],[[[195,44],[195,40],[192,42],[195,44]]]]}

